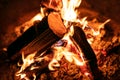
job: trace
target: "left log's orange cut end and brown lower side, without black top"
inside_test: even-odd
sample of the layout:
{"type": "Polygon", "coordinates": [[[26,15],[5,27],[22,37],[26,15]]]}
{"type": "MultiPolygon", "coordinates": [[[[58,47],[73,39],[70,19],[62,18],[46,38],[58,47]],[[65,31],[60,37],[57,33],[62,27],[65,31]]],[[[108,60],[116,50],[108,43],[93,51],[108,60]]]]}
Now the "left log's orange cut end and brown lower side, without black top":
{"type": "Polygon", "coordinates": [[[50,13],[48,16],[49,29],[40,34],[28,46],[23,48],[25,54],[39,51],[39,53],[47,50],[52,44],[63,37],[67,32],[64,27],[60,15],[58,13],[50,13]],[[57,36],[56,36],[57,35],[57,36]]]}

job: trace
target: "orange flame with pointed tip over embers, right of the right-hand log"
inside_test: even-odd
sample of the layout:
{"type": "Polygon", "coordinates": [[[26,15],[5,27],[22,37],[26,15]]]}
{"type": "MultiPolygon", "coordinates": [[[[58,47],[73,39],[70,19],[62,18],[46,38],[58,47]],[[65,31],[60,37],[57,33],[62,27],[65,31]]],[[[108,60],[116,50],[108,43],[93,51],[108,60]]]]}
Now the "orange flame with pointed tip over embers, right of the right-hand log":
{"type": "Polygon", "coordinates": [[[84,30],[86,35],[88,35],[88,34],[91,35],[90,38],[87,38],[87,41],[89,42],[89,44],[92,45],[95,38],[100,39],[105,34],[105,33],[101,34],[100,30],[104,29],[105,24],[108,23],[108,22],[110,22],[110,19],[106,20],[104,23],[92,23],[92,24],[95,25],[95,28],[97,28],[97,29],[94,29],[92,27],[92,25],[89,24],[89,22],[86,21],[87,24],[85,26],[83,26],[82,29],[84,30]],[[85,28],[89,28],[89,30],[85,30],[85,28]]]}

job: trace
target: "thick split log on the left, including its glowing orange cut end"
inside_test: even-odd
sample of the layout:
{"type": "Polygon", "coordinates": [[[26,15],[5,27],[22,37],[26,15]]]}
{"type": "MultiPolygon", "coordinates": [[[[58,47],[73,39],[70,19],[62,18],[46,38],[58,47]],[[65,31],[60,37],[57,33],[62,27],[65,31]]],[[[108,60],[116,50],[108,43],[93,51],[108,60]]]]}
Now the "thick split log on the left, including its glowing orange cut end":
{"type": "Polygon", "coordinates": [[[37,21],[8,46],[8,57],[11,58],[20,51],[25,51],[24,54],[34,51],[43,52],[59,40],[65,32],[66,28],[62,23],[60,15],[57,13],[50,13],[41,21],[37,21]]]}

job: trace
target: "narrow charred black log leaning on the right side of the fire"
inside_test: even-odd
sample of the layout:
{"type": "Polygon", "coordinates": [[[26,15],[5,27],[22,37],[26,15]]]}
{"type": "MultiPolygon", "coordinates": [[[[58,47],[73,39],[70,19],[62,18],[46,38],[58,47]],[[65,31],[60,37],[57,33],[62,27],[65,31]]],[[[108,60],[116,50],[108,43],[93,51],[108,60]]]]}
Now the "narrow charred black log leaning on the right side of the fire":
{"type": "Polygon", "coordinates": [[[98,78],[101,78],[100,71],[97,66],[97,59],[96,59],[95,53],[92,50],[89,43],[87,42],[85,33],[80,27],[77,27],[77,26],[74,27],[73,39],[75,40],[75,42],[78,44],[78,46],[81,48],[82,52],[84,53],[84,56],[88,61],[88,65],[89,65],[89,68],[91,69],[94,79],[96,80],[98,78]]]}

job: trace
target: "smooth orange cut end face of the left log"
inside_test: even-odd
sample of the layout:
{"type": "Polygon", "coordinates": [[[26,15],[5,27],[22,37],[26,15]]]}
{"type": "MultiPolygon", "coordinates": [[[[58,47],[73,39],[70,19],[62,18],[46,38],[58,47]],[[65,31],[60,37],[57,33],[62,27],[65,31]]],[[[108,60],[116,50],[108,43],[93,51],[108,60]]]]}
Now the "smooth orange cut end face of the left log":
{"type": "Polygon", "coordinates": [[[57,12],[49,14],[48,24],[50,29],[59,37],[63,37],[63,35],[67,32],[64,24],[62,24],[61,16],[57,12]]]}

